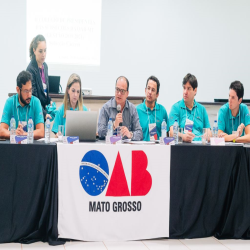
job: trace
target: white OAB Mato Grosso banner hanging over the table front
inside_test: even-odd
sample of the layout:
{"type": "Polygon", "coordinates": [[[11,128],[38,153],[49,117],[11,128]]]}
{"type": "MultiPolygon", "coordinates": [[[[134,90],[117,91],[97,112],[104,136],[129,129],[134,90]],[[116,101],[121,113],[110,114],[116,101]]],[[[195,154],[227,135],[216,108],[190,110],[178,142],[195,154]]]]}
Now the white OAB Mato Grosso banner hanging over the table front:
{"type": "Polygon", "coordinates": [[[60,238],[169,237],[170,146],[58,144],[60,238]]]}

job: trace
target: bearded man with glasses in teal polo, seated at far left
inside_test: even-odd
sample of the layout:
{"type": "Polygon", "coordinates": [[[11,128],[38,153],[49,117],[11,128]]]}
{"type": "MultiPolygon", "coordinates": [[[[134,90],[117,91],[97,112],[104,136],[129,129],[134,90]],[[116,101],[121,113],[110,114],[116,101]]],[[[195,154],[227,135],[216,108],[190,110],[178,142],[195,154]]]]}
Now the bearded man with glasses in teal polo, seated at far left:
{"type": "Polygon", "coordinates": [[[27,135],[27,124],[31,117],[34,123],[34,139],[44,137],[44,118],[38,98],[32,96],[31,74],[22,71],[17,77],[18,94],[9,97],[5,103],[0,124],[0,137],[10,138],[10,119],[16,120],[16,135],[27,135]]]}

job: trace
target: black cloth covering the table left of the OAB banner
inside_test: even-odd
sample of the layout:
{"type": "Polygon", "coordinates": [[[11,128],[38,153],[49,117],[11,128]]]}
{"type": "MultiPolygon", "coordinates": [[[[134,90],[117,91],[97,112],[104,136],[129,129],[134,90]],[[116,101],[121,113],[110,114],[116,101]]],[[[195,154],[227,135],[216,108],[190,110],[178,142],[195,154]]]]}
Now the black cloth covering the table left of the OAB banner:
{"type": "Polygon", "coordinates": [[[0,243],[60,243],[56,144],[0,143],[0,243]]]}

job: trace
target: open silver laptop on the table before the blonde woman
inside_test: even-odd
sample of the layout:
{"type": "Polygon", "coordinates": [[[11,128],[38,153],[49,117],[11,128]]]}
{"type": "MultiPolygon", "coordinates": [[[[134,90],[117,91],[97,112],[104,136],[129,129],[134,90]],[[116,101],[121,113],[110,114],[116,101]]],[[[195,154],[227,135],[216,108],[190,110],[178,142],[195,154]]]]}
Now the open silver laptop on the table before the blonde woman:
{"type": "Polygon", "coordinates": [[[79,141],[96,141],[96,111],[66,111],[66,136],[79,136],[79,141]]]}

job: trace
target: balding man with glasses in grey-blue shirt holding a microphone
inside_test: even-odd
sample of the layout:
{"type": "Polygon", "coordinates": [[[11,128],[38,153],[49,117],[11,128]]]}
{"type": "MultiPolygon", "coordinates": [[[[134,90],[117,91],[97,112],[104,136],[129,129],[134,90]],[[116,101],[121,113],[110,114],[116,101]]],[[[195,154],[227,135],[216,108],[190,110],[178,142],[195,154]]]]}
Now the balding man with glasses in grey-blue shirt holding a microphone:
{"type": "Polygon", "coordinates": [[[129,81],[126,77],[120,76],[116,80],[115,97],[106,102],[99,115],[98,135],[103,139],[107,135],[109,118],[112,119],[114,132],[119,124],[123,138],[140,141],[143,138],[138,113],[135,106],[127,100],[129,94],[129,81]],[[117,111],[120,105],[121,110],[117,111]]]}

